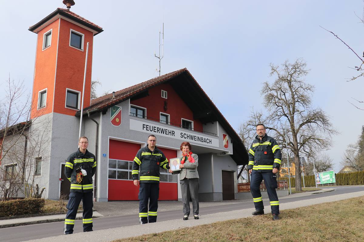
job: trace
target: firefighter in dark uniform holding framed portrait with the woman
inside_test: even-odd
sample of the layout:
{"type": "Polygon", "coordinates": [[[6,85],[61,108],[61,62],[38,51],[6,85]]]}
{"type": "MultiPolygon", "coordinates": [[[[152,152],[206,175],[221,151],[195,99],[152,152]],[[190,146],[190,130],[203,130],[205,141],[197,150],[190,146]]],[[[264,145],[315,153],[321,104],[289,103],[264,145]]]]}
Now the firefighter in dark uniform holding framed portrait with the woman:
{"type": "Polygon", "coordinates": [[[134,185],[139,187],[139,222],[155,223],[157,221],[158,197],[159,197],[159,169],[168,171],[168,159],[155,144],[157,139],[149,135],[148,145],[139,149],[132,165],[132,177],[134,185]],[[140,180],[138,170],[140,168],[140,180]],[[148,209],[149,201],[149,209],[148,209]]]}

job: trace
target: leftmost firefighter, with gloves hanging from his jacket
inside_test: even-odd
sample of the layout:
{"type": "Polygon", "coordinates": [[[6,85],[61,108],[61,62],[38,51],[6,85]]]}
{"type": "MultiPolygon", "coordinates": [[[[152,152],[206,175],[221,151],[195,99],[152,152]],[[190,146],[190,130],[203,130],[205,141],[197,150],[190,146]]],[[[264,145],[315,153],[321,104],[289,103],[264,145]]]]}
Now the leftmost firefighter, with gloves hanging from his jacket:
{"type": "Polygon", "coordinates": [[[96,172],[96,157],[87,151],[88,139],[82,136],[78,151],[68,156],[64,166],[64,175],[71,181],[70,198],[64,221],[64,234],[72,234],[78,206],[82,200],[83,231],[92,231],[92,176],[96,172]]]}

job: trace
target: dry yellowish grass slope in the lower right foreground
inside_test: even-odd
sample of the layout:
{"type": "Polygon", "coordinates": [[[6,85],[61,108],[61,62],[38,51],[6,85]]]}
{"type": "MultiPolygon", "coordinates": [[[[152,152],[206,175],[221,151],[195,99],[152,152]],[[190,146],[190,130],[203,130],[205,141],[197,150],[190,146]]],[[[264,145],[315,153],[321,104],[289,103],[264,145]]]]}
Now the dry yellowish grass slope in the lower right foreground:
{"type": "Polygon", "coordinates": [[[364,196],[208,225],[117,239],[113,242],[362,242],[364,241],[364,196]]]}

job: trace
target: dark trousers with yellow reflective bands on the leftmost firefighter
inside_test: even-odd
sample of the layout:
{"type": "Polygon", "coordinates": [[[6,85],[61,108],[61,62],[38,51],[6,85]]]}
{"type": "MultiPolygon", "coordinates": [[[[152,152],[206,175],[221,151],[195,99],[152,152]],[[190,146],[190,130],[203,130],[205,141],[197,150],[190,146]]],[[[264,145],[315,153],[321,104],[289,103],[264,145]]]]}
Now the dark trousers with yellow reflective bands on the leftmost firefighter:
{"type": "Polygon", "coordinates": [[[81,200],[83,206],[83,231],[92,231],[92,192],[70,192],[70,198],[66,206],[68,212],[64,221],[64,234],[73,233],[75,218],[81,200]]]}

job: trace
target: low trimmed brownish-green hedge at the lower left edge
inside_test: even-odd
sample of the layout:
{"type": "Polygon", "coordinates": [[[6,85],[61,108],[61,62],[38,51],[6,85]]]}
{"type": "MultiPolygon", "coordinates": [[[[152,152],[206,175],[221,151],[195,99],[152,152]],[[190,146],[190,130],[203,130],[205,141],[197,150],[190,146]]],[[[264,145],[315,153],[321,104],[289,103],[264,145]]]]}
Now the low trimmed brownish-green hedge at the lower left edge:
{"type": "Polygon", "coordinates": [[[41,213],[44,207],[43,198],[24,198],[0,201],[0,217],[41,213]]]}

